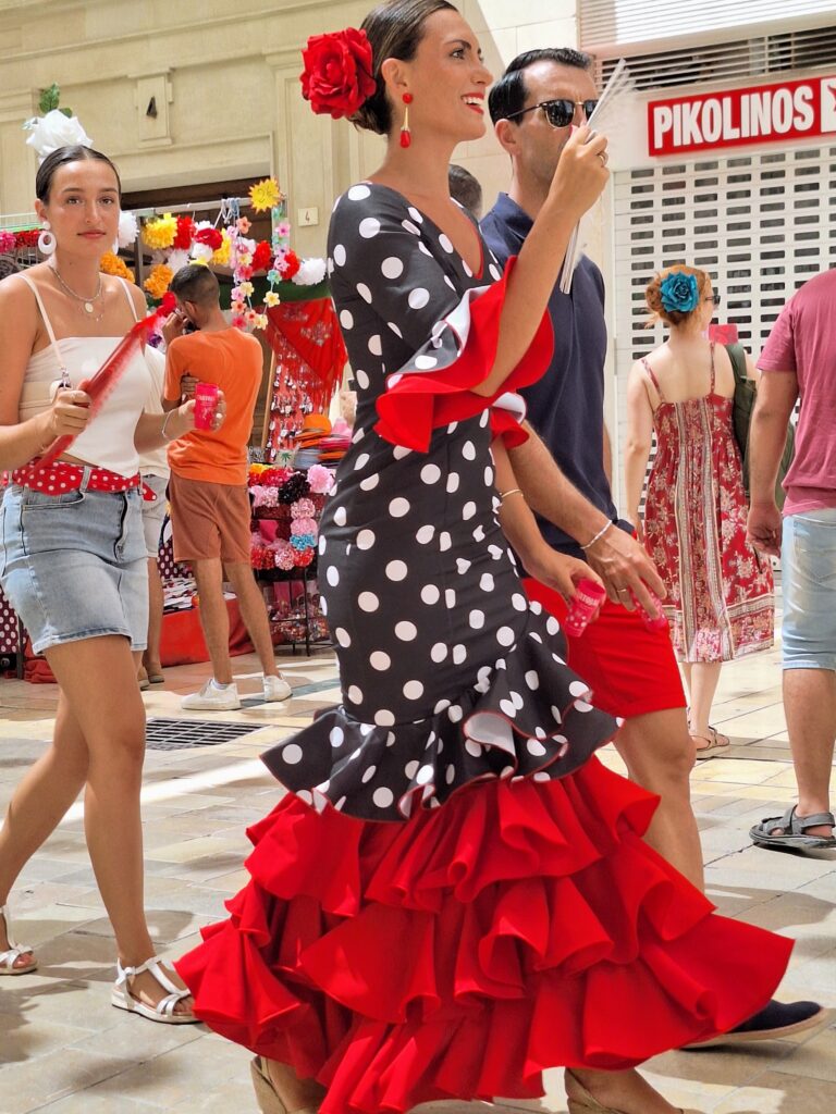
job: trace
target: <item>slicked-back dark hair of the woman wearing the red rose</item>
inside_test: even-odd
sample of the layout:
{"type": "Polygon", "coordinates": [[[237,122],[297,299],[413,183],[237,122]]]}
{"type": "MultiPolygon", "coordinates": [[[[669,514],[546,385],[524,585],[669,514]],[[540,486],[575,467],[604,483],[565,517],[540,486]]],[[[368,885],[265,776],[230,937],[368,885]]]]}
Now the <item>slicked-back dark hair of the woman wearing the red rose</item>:
{"type": "Polygon", "coordinates": [[[410,62],[424,38],[425,20],[444,10],[458,11],[458,8],[449,0],[388,0],[369,12],[361,26],[371,43],[371,71],[377,89],[350,117],[352,124],[381,136],[391,131],[392,107],[380,67],[387,58],[410,62]]]}

